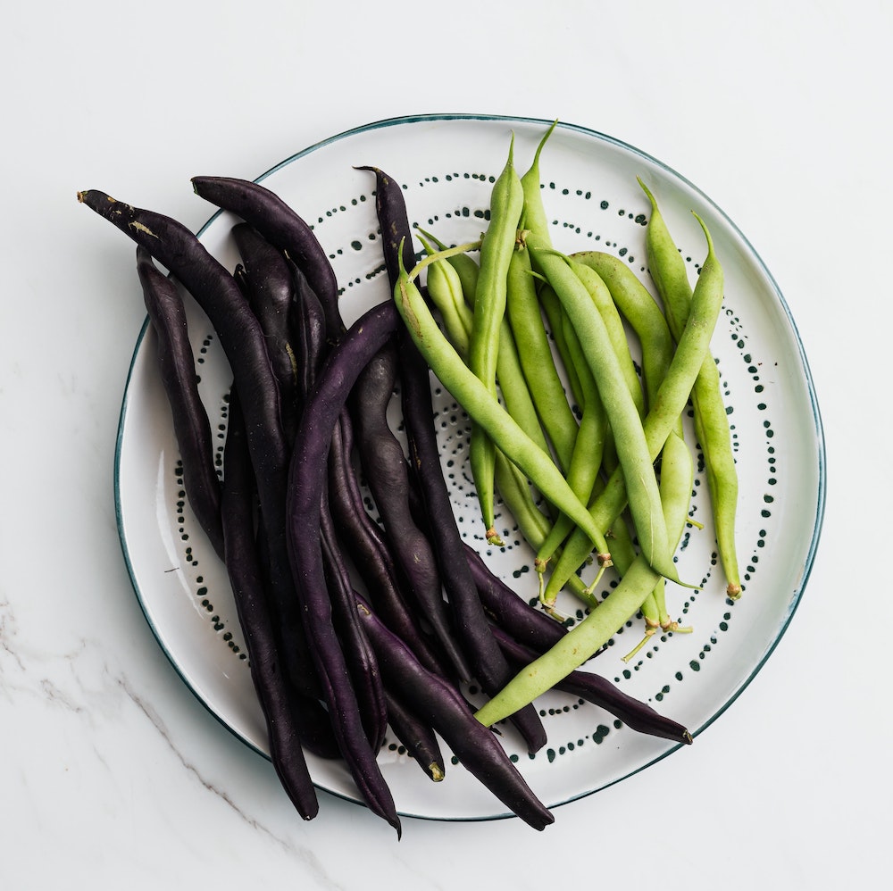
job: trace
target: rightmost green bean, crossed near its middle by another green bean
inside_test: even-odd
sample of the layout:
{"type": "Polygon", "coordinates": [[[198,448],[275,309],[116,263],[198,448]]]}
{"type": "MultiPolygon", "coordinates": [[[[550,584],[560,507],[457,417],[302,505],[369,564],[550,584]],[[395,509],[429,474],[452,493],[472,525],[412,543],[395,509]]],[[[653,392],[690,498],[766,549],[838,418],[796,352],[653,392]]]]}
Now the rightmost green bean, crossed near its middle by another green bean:
{"type": "MultiPolygon", "coordinates": [[[[692,299],[688,271],[663,220],[655,196],[641,179],[638,183],[651,203],[651,218],[646,236],[649,271],[663,300],[672,335],[678,339],[689,315],[692,299]]],[[[741,594],[735,545],[738,470],[735,467],[729,416],[722,398],[719,370],[711,354],[705,356],[692,387],[691,404],[695,414],[695,431],[704,454],[716,545],[726,575],[726,593],[737,598],[741,594]]]]}

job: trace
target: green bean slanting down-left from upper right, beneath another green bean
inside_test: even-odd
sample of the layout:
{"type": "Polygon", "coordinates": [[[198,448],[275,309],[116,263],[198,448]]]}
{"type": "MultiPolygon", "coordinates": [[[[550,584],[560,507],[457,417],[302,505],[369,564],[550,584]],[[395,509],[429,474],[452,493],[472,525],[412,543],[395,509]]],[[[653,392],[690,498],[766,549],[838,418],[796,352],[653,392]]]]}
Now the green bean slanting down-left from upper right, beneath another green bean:
{"type": "MultiPolygon", "coordinates": [[[[713,239],[704,221],[697,214],[695,216],[705,233],[707,256],[692,295],[689,318],[643,425],[651,461],[657,459],[667,437],[675,429],[682,412],[685,411],[704,356],[709,354],[710,339],[722,307],[724,280],[722,265],[714,253],[713,239]]],[[[599,528],[610,529],[613,520],[620,515],[627,501],[625,490],[625,474],[621,469],[615,470],[605,485],[605,490],[589,508],[590,517],[599,528]]],[[[669,537],[666,541],[669,541],[669,537]]],[[[554,603],[557,592],[563,586],[563,580],[571,577],[587,554],[585,538],[580,535],[572,536],[548,581],[547,603],[550,601],[554,603]]],[[[671,574],[663,573],[663,575],[673,579],[671,574]]]]}

